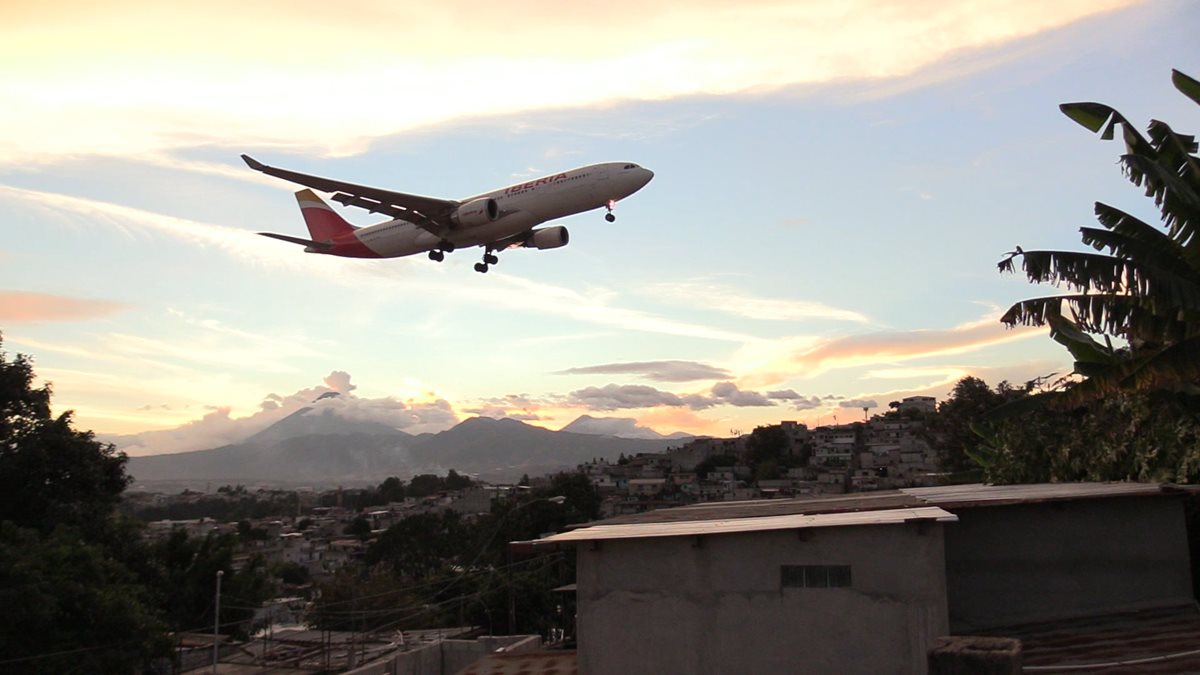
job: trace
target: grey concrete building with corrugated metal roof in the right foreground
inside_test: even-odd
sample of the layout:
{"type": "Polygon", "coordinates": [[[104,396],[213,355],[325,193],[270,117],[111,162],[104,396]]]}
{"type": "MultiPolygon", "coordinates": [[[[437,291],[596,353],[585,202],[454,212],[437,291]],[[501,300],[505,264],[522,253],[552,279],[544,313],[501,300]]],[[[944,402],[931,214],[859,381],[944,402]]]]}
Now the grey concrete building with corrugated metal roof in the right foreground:
{"type": "Polygon", "coordinates": [[[581,673],[920,674],[952,633],[1198,619],[1180,497],[1124,483],[703,503],[540,544],[577,551],[581,673]]]}

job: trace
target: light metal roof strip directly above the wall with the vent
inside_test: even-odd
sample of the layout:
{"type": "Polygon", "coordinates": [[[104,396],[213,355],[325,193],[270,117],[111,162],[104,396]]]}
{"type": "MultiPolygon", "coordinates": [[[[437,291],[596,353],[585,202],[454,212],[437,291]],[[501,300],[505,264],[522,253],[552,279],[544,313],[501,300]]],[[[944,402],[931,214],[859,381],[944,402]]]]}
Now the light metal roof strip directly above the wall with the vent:
{"type": "Polygon", "coordinates": [[[697,534],[727,534],[731,532],[761,532],[766,530],[800,530],[808,527],[846,527],[853,525],[898,525],[908,521],[954,522],[958,516],[937,507],[892,508],[884,510],[766,515],[725,520],[685,520],[674,522],[631,522],[625,525],[593,525],[539,539],[538,543],[593,542],[598,539],[635,539],[642,537],[689,537],[697,534]]]}

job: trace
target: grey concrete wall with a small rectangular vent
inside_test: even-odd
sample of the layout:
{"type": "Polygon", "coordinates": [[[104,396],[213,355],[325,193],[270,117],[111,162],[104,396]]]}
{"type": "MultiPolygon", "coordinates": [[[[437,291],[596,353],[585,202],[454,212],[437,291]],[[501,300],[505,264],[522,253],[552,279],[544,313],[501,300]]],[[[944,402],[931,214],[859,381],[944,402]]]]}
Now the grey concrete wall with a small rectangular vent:
{"type": "Polygon", "coordinates": [[[924,673],[948,632],[942,526],[803,532],[580,544],[580,671],[924,673]],[[850,565],[852,585],[781,589],[782,565],[850,565]]]}

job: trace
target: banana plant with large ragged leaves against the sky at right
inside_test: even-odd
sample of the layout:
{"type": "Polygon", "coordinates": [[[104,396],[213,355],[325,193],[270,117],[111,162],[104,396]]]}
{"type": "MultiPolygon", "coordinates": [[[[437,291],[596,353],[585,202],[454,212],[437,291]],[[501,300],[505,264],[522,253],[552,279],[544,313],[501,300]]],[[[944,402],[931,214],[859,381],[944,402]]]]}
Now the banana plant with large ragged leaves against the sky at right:
{"type": "MultiPolygon", "coordinates": [[[[1200,83],[1172,71],[1181,92],[1200,103],[1200,83]]],[[[1075,358],[1085,380],[1055,398],[1066,405],[1117,392],[1170,390],[1200,406],[1200,159],[1193,136],[1153,120],[1148,139],[1103,103],[1063,103],[1078,124],[1111,139],[1117,126],[1126,143],[1121,166],[1134,185],[1153,197],[1163,221],[1157,227],[1108,204],[1096,203],[1104,227],[1084,227],[1084,244],[1100,251],[1025,251],[1015,258],[1031,282],[1064,286],[1070,293],[1021,300],[1001,317],[1008,325],[1049,325],[1050,336],[1075,358]],[[1063,313],[1063,309],[1068,315],[1063,313]],[[1103,335],[1099,342],[1092,335],[1103,335]],[[1114,347],[1112,338],[1123,341],[1114,347]]]]}

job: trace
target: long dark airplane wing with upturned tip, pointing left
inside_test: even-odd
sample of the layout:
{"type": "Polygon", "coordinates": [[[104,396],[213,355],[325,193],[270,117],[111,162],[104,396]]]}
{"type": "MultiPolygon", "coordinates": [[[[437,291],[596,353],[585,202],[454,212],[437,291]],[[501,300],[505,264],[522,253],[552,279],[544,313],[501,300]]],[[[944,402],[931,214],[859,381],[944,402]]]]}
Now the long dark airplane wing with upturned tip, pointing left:
{"type": "Polygon", "coordinates": [[[391,190],[380,190],[379,187],[355,185],[319,175],[281,169],[264,165],[250,155],[242,155],[241,159],[254,171],[323,192],[336,192],[332,197],[335,202],[341,202],[347,207],[359,207],[371,213],[382,213],[392,217],[404,219],[439,237],[444,232],[444,228],[449,226],[445,220],[446,216],[460,204],[460,202],[454,199],[438,199],[420,195],[408,195],[406,192],[392,192],[391,190]]]}

